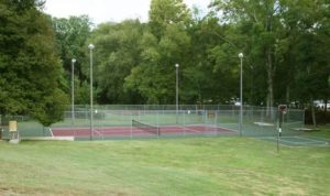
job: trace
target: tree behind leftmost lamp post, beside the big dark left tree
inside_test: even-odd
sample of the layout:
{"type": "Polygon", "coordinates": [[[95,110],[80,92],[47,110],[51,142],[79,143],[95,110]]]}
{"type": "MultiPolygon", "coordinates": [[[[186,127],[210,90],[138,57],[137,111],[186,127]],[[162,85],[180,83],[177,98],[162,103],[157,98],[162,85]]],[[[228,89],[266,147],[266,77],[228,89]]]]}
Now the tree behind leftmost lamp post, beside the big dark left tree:
{"type": "Polygon", "coordinates": [[[63,68],[66,70],[65,77],[62,79],[61,88],[67,94],[70,91],[70,73],[72,59],[76,58],[75,63],[75,91],[76,104],[87,104],[88,99],[84,92],[86,91],[87,75],[84,73],[86,65],[86,42],[91,33],[91,22],[87,15],[70,17],[69,19],[52,19],[53,29],[55,32],[56,52],[61,56],[63,68]]]}

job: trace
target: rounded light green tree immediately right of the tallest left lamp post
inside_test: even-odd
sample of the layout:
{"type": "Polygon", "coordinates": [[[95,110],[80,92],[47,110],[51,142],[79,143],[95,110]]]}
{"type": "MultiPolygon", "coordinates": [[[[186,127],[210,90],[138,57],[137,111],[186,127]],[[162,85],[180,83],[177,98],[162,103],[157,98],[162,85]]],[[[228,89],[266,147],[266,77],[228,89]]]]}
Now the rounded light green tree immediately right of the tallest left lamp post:
{"type": "Polygon", "coordinates": [[[100,104],[139,102],[140,96],[125,91],[124,78],[139,65],[144,24],[139,20],[100,24],[89,40],[96,45],[94,70],[100,104]],[[138,100],[136,100],[138,99],[138,100]]]}

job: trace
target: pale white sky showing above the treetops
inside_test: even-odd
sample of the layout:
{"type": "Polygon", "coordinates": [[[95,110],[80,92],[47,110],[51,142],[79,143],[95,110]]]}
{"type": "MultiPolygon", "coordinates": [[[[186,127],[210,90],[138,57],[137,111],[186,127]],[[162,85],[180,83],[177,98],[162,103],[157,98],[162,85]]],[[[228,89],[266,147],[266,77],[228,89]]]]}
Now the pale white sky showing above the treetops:
{"type": "MultiPolygon", "coordinates": [[[[184,0],[207,11],[211,0],[184,0]]],[[[87,14],[95,24],[121,22],[125,19],[147,21],[151,0],[46,0],[44,12],[56,18],[87,14]]]]}

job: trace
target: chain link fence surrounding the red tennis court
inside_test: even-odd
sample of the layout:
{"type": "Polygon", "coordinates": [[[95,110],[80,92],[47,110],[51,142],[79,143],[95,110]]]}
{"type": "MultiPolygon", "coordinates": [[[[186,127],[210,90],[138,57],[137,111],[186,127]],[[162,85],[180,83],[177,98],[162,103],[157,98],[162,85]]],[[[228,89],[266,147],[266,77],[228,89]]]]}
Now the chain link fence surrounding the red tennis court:
{"type": "MultiPolygon", "coordinates": [[[[69,107],[68,107],[69,108],[69,107]]],[[[240,130],[240,107],[221,105],[106,105],[95,106],[92,123],[89,106],[75,106],[64,112],[64,120],[52,126],[52,131],[33,119],[16,117],[21,138],[74,137],[75,140],[107,140],[134,138],[180,137],[275,137],[278,128],[277,108],[243,107],[240,130]],[[134,123],[133,123],[134,122],[134,123]]],[[[12,117],[11,117],[12,118],[12,117]]],[[[282,134],[302,132],[304,110],[288,109],[283,117],[282,134]]],[[[1,121],[4,119],[1,118],[1,121]]],[[[2,138],[8,137],[6,126],[2,138]]]]}

